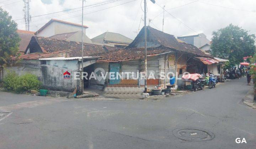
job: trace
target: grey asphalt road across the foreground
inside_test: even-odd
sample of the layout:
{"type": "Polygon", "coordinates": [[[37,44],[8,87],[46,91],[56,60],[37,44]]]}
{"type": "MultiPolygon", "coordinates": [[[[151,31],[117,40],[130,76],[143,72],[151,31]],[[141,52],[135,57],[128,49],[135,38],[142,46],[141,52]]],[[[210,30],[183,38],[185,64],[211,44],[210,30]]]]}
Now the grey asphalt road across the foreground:
{"type": "Polygon", "coordinates": [[[255,149],[256,110],[241,102],[249,89],[252,86],[242,78],[160,101],[54,99],[0,92],[0,111],[10,112],[0,117],[0,148],[255,149]],[[191,128],[206,131],[210,140],[177,138],[178,128],[188,128],[179,134],[198,135],[198,140],[200,132],[191,128]],[[246,143],[237,144],[236,138],[245,138],[246,143]]]}

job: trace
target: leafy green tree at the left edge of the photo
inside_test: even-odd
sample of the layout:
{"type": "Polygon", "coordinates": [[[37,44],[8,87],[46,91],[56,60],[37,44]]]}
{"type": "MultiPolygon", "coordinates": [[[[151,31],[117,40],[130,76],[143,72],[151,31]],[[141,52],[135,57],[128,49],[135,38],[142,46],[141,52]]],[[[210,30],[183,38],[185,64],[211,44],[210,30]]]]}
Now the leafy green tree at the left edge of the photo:
{"type": "Polygon", "coordinates": [[[0,7],[0,65],[17,63],[18,43],[17,23],[7,11],[0,7]]]}

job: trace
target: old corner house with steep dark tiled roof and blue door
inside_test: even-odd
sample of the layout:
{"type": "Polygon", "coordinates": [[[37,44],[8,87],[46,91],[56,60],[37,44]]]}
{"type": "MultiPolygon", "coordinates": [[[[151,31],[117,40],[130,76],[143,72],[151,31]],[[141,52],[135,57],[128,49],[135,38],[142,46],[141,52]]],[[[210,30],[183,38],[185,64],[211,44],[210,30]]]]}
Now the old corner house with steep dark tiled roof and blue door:
{"type": "MultiPolygon", "coordinates": [[[[196,46],[178,41],[173,35],[163,33],[150,26],[147,27],[147,44],[148,44],[148,62],[147,73],[153,72],[156,79],[148,79],[148,87],[164,87],[169,79],[160,79],[160,73],[173,72],[176,77],[181,77],[190,66],[188,60],[191,57],[209,57],[199,50],[196,46]],[[176,75],[177,72],[177,75],[176,75]]],[[[101,56],[94,64],[94,69],[102,68],[105,72],[143,72],[144,71],[144,28],[139,32],[137,37],[124,49],[110,51],[108,53],[96,54],[101,56]]],[[[198,66],[198,64],[194,64],[198,66]]],[[[203,65],[203,64],[202,64],[203,65]]],[[[170,77],[171,74],[169,74],[170,77]]],[[[136,75],[134,76],[137,77],[136,75]]],[[[177,85],[183,82],[178,80],[177,85]]],[[[132,76],[124,76],[123,79],[110,80],[92,80],[91,85],[103,87],[108,84],[119,87],[140,87],[144,85],[144,79],[132,79],[132,76]]]]}

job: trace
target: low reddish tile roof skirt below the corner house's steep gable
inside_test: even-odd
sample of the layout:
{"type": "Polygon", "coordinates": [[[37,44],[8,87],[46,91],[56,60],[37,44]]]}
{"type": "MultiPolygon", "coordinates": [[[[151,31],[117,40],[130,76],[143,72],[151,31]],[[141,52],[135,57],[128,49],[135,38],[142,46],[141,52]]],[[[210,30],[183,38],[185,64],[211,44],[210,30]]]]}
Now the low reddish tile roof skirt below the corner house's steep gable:
{"type": "MultiPolygon", "coordinates": [[[[169,53],[172,49],[166,47],[148,48],[148,56],[154,56],[163,53],[169,53]]],[[[132,59],[139,59],[144,57],[144,48],[129,48],[129,49],[117,49],[110,52],[95,54],[92,56],[101,56],[98,61],[126,61],[132,59]]]]}

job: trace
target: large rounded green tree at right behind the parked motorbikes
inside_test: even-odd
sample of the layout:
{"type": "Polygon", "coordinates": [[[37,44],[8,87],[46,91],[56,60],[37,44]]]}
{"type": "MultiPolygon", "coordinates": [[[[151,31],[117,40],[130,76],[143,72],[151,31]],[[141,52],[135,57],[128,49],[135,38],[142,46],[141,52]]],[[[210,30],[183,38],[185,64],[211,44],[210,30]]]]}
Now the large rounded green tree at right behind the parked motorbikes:
{"type": "Polygon", "coordinates": [[[234,66],[243,61],[243,57],[255,53],[255,34],[233,24],[212,33],[212,55],[228,58],[230,65],[234,66]]]}

